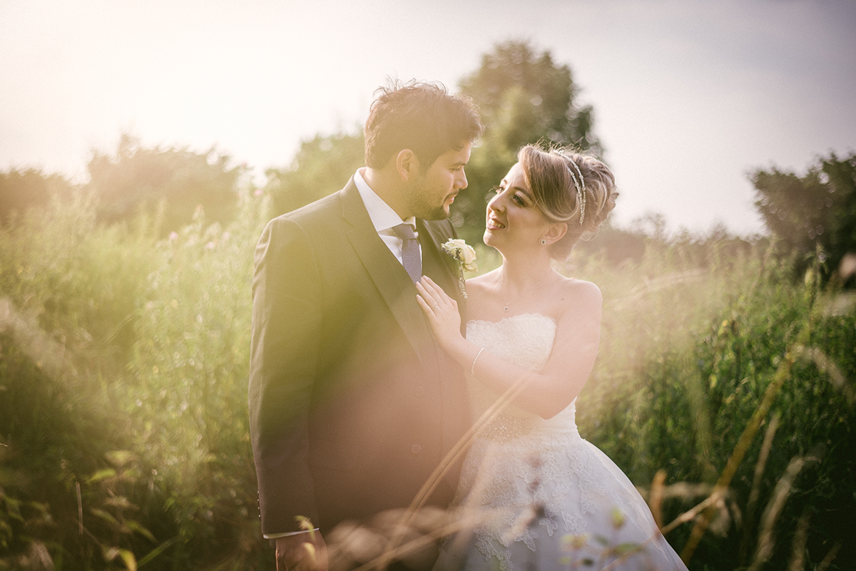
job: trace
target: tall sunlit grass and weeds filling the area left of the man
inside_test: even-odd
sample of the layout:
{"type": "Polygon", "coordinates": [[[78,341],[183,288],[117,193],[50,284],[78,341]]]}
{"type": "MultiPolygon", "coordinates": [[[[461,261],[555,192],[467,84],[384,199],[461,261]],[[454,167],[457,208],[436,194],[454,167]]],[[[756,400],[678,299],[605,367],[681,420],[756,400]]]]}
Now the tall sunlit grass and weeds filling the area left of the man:
{"type": "Polygon", "coordinates": [[[0,229],[0,568],[258,565],[259,196],[162,240],[99,226],[86,194],[0,229]]]}

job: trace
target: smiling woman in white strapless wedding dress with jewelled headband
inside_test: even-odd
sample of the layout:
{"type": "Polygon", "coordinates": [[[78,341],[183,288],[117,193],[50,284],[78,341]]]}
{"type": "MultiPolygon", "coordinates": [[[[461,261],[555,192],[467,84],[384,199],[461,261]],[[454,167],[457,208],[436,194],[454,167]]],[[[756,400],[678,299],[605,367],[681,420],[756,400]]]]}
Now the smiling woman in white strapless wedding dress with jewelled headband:
{"type": "Polygon", "coordinates": [[[528,145],[487,207],[484,244],[502,266],[467,281],[466,338],[455,301],[429,278],[417,285],[437,342],[471,373],[473,419],[500,401],[461,470],[458,509],[478,523],[447,541],[437,569],[686,569],[627,476],[574,421],[602,297],[550,262],[597,230],[616,194],[603,162],[528,145]]]}

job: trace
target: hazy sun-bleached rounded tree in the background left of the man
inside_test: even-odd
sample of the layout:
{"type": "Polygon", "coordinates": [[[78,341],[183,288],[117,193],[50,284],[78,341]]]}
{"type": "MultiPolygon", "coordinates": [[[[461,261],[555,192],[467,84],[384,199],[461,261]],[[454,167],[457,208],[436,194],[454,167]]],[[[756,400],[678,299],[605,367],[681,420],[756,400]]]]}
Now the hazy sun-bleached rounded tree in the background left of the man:
{"type": "Polygon", "coordinates": [[[205,209],[206,221],[233,220],[244,172],[243,167],[229,167],[229,156],[213,149],[207,153],[148,149],[126,133],[115,156],[96,152],[88,169],[100,220],[128,221],[140,213],[160,212],[164,234],[189,224],[199,206],[205,209]]]}

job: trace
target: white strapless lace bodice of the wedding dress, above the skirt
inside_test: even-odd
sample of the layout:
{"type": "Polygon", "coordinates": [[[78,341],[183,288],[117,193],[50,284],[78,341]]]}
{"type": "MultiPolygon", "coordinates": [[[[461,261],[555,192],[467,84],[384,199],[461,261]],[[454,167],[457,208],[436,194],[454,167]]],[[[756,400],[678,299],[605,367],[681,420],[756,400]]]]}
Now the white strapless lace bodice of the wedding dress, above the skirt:
{"type": "MultiPolygon", "coordinates": [[[[532,371],[539,371],[547,364],[555,338],[556,321],[546,315],[523,314],[496,322],[467,323],[468,340],[514,365],[532,371]]],[[[499,397],[478,379],[469,381],[468,391],[473,421],[478,420],[499,397]]],[[[575,400],[558,415],[547,420],[509,404],[480,434],[484,438],[504,441],[532,432],[575,433],[574,404],[575,400]]]]}

